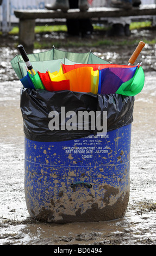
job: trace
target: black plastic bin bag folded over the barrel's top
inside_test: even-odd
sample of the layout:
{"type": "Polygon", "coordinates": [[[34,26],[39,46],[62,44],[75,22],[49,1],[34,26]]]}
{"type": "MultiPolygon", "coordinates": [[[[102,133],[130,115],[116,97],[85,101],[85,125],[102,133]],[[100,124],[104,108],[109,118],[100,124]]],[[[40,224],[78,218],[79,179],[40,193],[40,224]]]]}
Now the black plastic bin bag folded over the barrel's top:
{"type": "MultiPolygon", "coordinates": [[[[107,111],[107,131],[118,129],[133,122],[134,96],[120,94],[92,94],[63,90],[49,92],[21,88],[21,112],[23,130],[27,139],[39,142],[68,141],[97,135],[97,130],[50,130],[49,113],[59,113],[61,127],[61,107],[65,111],[107,111]]],[[[102,115],[101,115],[102,117],[102,115]]],[[[90,127],[90,124],[89,124],[90,127]]]]}

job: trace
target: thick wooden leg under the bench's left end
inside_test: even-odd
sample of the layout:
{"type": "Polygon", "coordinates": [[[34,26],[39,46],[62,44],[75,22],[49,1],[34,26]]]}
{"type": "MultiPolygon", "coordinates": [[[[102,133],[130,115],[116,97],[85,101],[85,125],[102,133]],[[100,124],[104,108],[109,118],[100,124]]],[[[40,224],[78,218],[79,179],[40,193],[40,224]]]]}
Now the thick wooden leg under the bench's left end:
{"type": "Polygon", "coordinates": [[[35,20],[20,19],[19,25],[19,44],[22,44],[28,53],[34,49],[35,40],[35,20]]]}

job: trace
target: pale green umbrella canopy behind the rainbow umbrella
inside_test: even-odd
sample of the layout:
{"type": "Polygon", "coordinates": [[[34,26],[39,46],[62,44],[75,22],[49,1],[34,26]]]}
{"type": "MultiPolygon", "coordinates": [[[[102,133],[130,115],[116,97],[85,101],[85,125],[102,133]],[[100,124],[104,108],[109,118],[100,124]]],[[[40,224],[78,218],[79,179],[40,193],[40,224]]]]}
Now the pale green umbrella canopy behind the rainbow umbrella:
{"type": "MultiPolygon", "coordinates": [[[[60,70],[60,64],[78,64],[78,63],[85,63],[85,64],[105,64],[109,63],[91,51],[87,53],[75,53],[75,52],[66,52],[56,49],[55,47],[52,50],[39,52],[39,53],[32,53],[28,54],[28,58],[30,63],[32,63],[33,69],[36,71],[38,69],[40,72],[46,72],[47,69],[50,72],[60,70]]],[[[15,70],[18,78],[21,80],[24,76],[27,75],[27,70],[25,68],[26,63],[24,62],[21,55],[16,55],[11,60],[11,65],[15,70]]]]}

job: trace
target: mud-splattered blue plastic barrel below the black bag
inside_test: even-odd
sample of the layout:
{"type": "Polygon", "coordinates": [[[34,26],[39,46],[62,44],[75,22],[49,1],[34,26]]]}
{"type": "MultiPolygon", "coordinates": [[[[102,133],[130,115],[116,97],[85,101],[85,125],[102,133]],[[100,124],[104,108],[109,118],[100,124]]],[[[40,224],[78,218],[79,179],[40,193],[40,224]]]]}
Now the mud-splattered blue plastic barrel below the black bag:
{"type": "Polygon", "coordinates": [[[61,142],[25,138],[28,212],[52,223],[97,222],[124,216],[129,200],[131,124],[61,142]]]}

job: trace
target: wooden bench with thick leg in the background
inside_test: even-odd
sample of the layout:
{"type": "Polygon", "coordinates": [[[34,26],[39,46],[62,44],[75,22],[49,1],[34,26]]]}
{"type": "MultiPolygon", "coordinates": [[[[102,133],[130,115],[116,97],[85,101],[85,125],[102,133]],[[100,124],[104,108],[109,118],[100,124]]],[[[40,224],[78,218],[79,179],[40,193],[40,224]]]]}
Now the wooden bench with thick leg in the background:
{"type": "MultiPolygon", "coordinates": [[[[48,8],[48,6],[47,6],[48,8]]],[[[79,9],[69,9],[66,13],[61,10],[53,11],[48,9],[38,10],[15,10],[15,16],[19,22],[19,43],[28,49],[33,49],[35,40],[35,20],[36,19],[93,19],[101,17],[121,17],[121,16],[146,16],[156,15],[156,4],[140,5],[132,9],[121,8],[89,8],[88,11],[79,9]]]]}

